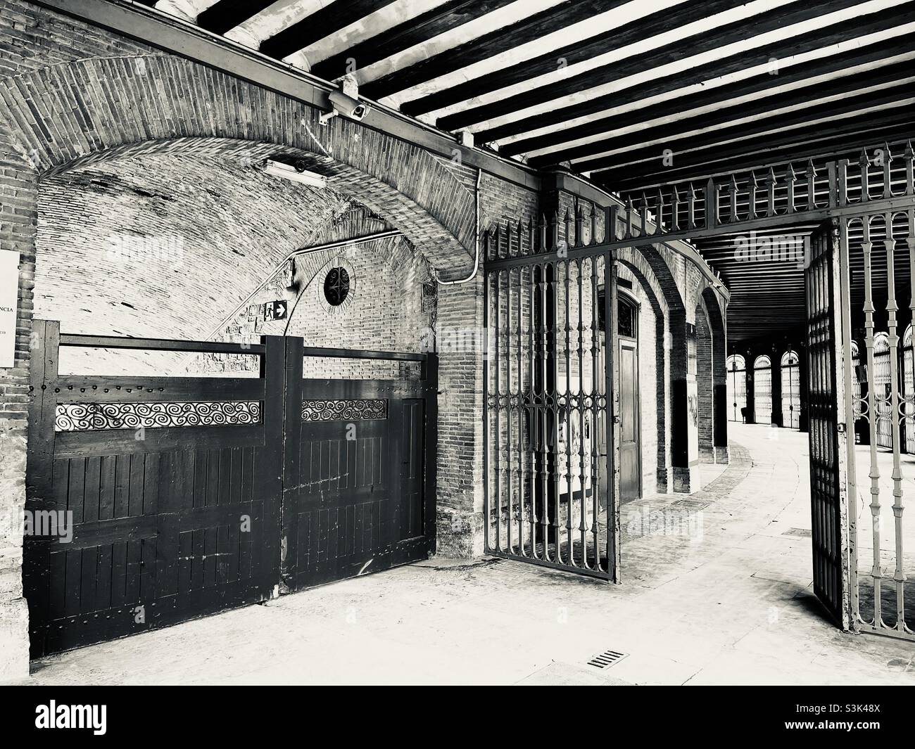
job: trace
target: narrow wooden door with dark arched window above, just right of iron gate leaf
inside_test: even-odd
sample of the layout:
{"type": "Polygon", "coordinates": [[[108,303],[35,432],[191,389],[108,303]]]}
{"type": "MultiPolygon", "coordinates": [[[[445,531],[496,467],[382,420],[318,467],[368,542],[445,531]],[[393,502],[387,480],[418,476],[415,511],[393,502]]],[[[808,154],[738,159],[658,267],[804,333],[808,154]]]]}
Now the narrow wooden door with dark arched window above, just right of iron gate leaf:
{"type": "Polygon", "coordinates": [[[623,501],[641,497],[639,305],[619,294],[619,491],[623,501]]]}

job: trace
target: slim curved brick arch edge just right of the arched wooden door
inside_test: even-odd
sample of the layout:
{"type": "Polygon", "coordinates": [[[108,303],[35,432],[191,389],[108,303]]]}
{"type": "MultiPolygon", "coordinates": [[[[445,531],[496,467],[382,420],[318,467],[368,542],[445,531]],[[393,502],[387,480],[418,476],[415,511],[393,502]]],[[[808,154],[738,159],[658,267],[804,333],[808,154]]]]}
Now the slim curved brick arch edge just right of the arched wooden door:
{"type": "Polygon", "coordinates": [[[664,297],[662,286],[658,277],[654,274],[649,263],[642,253],[632,247],[621,247],[610,252],[613,260],[625,265],[630,272],[639,280],[641,287],[645,290],[648,302],[654,312],[654,332],[655,332],[655,367],[657,372],[657,441],[658,441],[658,465],[657,465],[657,490],[660,493],[666,493],[668,487],[668,474],[671,467],[670,440],[667,436],[667,424],[669,422],[668,409],[668,372],[667,362],[667,341],[669,333],[667,322],[669,310],[667,299],[664,297]]]}

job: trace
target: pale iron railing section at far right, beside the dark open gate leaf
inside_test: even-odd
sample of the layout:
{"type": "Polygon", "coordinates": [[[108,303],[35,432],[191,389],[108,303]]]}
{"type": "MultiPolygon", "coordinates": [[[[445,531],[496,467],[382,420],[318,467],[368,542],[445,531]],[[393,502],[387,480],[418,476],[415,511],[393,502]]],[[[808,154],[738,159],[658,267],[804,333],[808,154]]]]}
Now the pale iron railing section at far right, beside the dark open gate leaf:
{"type": "MultiPolygon", "coordinates": [[[[911,154],[908,157],[906,192],[915,195],[911,154]]],[[[848,297],[850,315],[864,320],[867,372],[865,388],[849,388],[846,409],[860,413],[869,431],[867,447],[856,449],[852,441],[848,447],[849,494],[854,499],[849,515],[852,626],[915,639],[915,589],[906,572],[915,556],[905,551],[915,539],[912,524],[904,521],[904,498],[912,476],[903,475],[901,461],[904,433],[915,420],[915,395],[902,387],[898,321],[899,297],[906,282],[909,316],[915,312],[915,206],[910,200],[908,208],[866,209],[861,206],[859,215],[845,217],[841,225],[843,280],[848,284],[849,277],[860,273],[863,282],[863,298],[856,285],[848,297]],[[877,269],[885,273],[875,273],[877,269]],[[884,312],[887,329],[875,333],[875,317],[884,312]],[[880,356],[882,366],[877,361],[880,356]]],[[[846,383],[856,379],[856,372],[846,367],[846,383]]],[[[910,470],[910,465],[906,468],[910,470]]]]}

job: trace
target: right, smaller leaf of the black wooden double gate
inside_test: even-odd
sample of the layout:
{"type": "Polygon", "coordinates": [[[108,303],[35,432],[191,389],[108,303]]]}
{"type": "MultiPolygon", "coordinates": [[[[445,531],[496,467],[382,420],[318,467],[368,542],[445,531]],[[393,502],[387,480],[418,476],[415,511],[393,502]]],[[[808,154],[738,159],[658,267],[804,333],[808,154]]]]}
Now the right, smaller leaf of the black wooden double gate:
{"type": "MultiPolygon", "coordinates": [[[[300,341],[287,346],[289,360],[316,353],[300,341]]],[[[424,361],[424,379],[303,379],[287,391],[283,579],[290,590],[425,559],[434,548],[423,466],[434,460],[427,402],[436,397],[435,369],[425,355],[330,355],[424,361]]]]}

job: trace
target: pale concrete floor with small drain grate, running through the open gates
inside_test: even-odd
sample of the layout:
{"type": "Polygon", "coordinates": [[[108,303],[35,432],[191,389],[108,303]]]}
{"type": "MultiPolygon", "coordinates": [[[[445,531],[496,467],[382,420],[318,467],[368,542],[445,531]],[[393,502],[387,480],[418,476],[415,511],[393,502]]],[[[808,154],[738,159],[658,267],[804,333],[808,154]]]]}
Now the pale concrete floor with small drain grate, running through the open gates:
{"type": "Polygon", "coordinates": [[[915,684],[915,646],[813,597],[807,435],[730,424],[727,470],[623,508],[612,585],[433,559],[33,664],[40,684],[915,684]],[[587,660],[628,654],[606,670],[587,660]]]}

